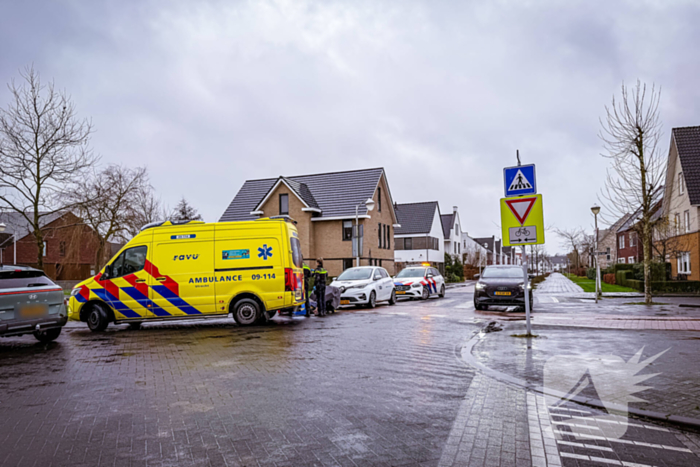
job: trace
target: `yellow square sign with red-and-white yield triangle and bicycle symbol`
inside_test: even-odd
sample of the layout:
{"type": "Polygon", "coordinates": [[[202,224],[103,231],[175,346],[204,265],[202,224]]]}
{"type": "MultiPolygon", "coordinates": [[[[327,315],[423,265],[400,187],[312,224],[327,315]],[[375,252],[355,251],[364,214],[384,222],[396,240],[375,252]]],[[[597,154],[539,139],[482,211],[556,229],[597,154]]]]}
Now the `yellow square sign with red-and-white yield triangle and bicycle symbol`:
{"type": "Polygon", "coordinates": [[[501,198],[503,246],[544,244],[542,195],[501,198]]]}

